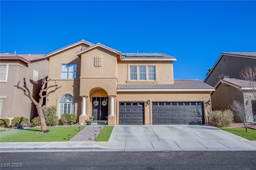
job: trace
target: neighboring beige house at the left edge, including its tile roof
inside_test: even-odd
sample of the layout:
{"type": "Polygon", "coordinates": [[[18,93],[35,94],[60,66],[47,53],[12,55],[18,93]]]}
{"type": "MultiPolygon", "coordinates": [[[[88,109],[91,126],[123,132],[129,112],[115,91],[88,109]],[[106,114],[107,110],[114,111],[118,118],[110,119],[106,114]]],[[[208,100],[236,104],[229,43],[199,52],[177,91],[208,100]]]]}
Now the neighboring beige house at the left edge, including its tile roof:
{"type": "Polygon", "coordinates": [[[41,54],[0,54],[0,118],[12,120],[26,117],[32,120],[37,116],[36,107],[23,91],[14,87],[23,78],[38,99],[42,79],[48,76],[48,61],[41,54]]]}

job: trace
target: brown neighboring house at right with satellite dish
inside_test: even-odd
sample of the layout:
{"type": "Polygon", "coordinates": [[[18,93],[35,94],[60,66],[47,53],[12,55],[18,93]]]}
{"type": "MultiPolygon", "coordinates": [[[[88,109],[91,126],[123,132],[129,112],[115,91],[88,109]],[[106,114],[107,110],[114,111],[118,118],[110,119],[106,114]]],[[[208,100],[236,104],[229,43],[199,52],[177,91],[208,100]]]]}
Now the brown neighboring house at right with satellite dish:
{"type": "MultiPolygon", "coordinates": [[[[256,53],[226,53],[223,52],[204,82],[216,88],[211,93],[212,110],[230,109],[234,100],[244,103],[245,107],[256,111],[256,100],[248,97],[248,92],[241,93],[238,89],[246,88],[246,82],[240,80],[240,72],[245,67],[256,66],[256,53]],[[221,80],[222,78],[222,80],[221,80]]],[[[240,119],[236,118],[236,121],[240,119]]],[[[252,122],[252,116],[249,122],[252,122]]]]}

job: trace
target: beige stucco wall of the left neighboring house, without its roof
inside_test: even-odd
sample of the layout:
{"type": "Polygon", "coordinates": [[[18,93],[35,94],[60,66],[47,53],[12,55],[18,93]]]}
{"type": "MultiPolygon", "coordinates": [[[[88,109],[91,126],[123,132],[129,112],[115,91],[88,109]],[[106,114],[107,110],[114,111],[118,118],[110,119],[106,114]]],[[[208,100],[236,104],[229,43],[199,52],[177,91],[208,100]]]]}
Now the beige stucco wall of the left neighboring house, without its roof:
{"type": "Polygon", "coordinates": [[[20,86],[23,87],[23,78],[26,78],[27,87],[32,92],[34,90],[33,96],[37,98],[38,95],[35,93],[39,94],[37,88],[42,83],[42,76],[48,75],[48,61],[43,59],[25,64],[21,61],[1,60],[1,64],[8,64],[7,82],[0,83],[0,96],[6,96],[6,99],[3,99],[1,118],[26,117],[29,120],[33,119],[37,116],[34,104],[21,89],[17,89],[14,85],[20,81],[20,86]],[[33,79],[34,69],[38,71],[38,84],[30,81],[33,79]]]}

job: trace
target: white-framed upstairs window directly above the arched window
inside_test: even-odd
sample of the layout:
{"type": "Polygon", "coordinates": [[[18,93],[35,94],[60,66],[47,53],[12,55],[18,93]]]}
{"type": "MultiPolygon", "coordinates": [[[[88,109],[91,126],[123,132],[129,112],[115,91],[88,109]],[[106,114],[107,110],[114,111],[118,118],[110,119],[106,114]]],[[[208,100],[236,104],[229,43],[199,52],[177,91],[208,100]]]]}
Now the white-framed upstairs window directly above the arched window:
{"type": "Polygon", "coordinates": [[[62,64],[61,65],[62,79],[76,79],[76,64],[62,64]]]}

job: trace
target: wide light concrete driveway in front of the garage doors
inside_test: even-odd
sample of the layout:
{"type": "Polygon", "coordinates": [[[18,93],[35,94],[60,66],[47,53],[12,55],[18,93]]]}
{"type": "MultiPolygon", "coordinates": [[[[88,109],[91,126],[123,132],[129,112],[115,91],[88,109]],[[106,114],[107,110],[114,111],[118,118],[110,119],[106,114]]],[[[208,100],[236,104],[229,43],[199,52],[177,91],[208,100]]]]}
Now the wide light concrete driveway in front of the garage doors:
{"type": "Polygon", "coordinates": [[[248,140],[208,125],[116,125],[109,141],[248,140]]]}

